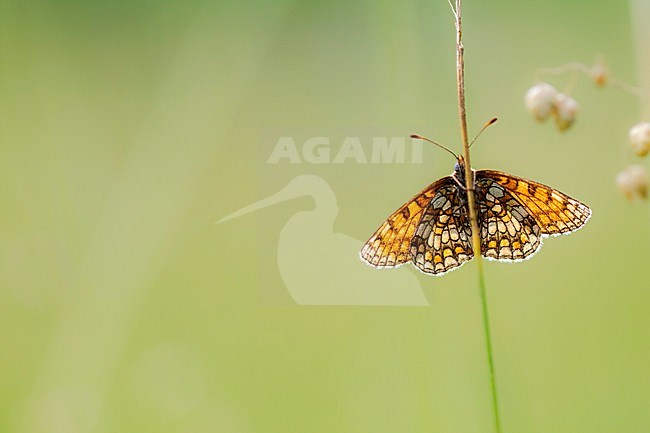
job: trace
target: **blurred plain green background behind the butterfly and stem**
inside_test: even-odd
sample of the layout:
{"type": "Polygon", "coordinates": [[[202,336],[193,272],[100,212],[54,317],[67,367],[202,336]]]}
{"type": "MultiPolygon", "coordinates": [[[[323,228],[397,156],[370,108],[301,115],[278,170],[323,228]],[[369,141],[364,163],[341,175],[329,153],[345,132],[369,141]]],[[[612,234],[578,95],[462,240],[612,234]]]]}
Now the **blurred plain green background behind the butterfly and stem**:
{"type": "MultiPolygon", "coordinates": [[[[650,431],[648,208],[614,184],[638,101],[581,77],[565,134],[523,107],[537,68],[597,53],[637,82],[632,15],[465,3],[470,129],[500,118],[475,167],[594,211],[486,265],[504,432],[650,431]]],[[[335,230],[366,239],[451,172],[433,146],[422,164],[265,163],[291,135],[458,149],[446,1],[8,0],[0,35],[0,431],[492,431],[473,263],[416,274],[430,307],[298,306],[275,248],[308,198],[214,224],[316,174],[335,230]]]]}

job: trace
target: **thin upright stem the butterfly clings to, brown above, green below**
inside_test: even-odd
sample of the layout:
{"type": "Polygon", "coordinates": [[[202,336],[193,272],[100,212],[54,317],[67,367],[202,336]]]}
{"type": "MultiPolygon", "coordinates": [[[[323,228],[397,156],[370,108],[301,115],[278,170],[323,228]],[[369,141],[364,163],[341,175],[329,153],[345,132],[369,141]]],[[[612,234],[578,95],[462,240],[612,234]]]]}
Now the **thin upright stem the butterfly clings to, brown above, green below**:
{"type": "MultiPolygon", "coordinates": [[[[450,3],[451,5],[451,3],[450,3]]],[[[492,356],[492,338],[490,335],[490,317],[488,314],[487,292],[485,289],[485,277],[483,275],[483,260],[481,255],[481,239],[479,236],[478,214],[474,198],[474,173],[470,163],[469,139],[467,135],[467,113],[465,111],[465,48],[462,42],[461,9],[462,0],[456,0],[456,6],[452,5],[456,24],[456,82],[458,90],[458,117],[460,120],[460,131],[463,142],[463,159],[465,160],[465,187],[467,189],[467,201],[469,204],[469,217],[472,226],[472,249],[476,260],[478,272],[479,290],[481,293],[481,304],[483,307],[483,330],[485,331],[485,349],[488,358],[490,371],[490,387],[492,390],[492,409],[494,412],[494,427],[496,433],[501,433],[501,421],[499,419],[499,403],[497,399],[496,377],[494,374],[494,360],[492,356]]]]}

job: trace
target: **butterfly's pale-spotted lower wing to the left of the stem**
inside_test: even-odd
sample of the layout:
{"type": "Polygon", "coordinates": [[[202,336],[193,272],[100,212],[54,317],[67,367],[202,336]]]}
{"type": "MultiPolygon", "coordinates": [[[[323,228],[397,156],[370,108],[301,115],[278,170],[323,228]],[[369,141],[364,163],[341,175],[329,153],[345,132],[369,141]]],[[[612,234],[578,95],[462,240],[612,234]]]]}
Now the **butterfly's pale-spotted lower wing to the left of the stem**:
{"type": "Polygon", "coordinates": [[[411,240],[411,259],[422,272],[442,275],[469,261],[472,230],[467,201],[455,181],[436,192],[411,240]]]}

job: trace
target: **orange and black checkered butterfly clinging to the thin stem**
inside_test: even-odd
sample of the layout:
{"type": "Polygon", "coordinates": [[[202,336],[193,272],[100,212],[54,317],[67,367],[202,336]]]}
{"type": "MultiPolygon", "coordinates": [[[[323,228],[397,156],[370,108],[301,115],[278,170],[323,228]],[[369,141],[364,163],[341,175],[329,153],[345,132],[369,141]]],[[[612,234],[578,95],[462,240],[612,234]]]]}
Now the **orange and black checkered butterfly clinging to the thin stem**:
{"type": "MultiPolygon", "coordinates": [[[[377,268],[411,262],[422,272],[443,275],[472,259],[465,163],[456,158],[450,176],[427,186],[375,231],[361,249],[362,260],[377,268]]],[[[587,205],[539,182],[495,170],[472,170],[472,178],[481,255],[487,259],[528,259],[543,238],[574,232],[591,217],[587,205]]]]}

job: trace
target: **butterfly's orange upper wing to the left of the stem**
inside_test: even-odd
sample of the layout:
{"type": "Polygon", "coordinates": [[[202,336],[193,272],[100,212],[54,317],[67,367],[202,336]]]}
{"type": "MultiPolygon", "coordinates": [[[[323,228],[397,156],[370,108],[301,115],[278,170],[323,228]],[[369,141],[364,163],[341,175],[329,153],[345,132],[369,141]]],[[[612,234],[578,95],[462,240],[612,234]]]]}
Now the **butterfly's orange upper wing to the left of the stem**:
{"type": "Polygon", "coordinates": [[[411,260],[411,239],[415,235],[424,210],[438,191],[453,184],[450,176],[432,183],[397,209],[368,239],[361,249],[361,258],[371,266],[395,267],[411,260]]]}

